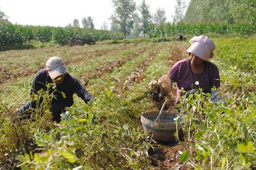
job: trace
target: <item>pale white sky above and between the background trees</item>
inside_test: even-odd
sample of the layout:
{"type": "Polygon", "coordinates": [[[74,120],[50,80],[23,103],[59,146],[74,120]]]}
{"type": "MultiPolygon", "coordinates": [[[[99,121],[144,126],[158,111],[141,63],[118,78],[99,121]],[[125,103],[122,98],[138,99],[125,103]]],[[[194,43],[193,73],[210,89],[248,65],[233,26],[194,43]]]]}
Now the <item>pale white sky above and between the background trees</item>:
{"type": "MultiPolygon", "coordinates": [[[[142,0],[135,0],[140,5],[142,0]]],[[[164,8],[167,21],[172,20],[176,0],[145,0],[149,11],[154,14],[157,8],[164,8]]],[[[188,4],[189,0],[185,0],[188,4]]],[[[92,17],[96,29],[100,29],[104,21],[108,23],[114,12],[112,0],[0,0],[0,10],[12,23],[33,26],[67,26],[76,18],[92,17]]]]}

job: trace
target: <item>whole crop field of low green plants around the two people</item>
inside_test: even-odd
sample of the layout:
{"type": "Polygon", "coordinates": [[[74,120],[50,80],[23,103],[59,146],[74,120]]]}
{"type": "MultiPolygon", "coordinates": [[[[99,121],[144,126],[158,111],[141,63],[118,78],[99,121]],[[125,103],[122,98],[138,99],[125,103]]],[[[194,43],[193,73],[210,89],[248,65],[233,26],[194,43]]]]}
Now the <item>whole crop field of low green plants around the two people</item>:
{"type": "Polygon", "coordinates": [[[255,169],[256,39],[212,39],[223,100],[213,104],[201,92],[183,99],[184,139],[176,142],[151,140],[140,116],[159,110],[165,99],[173,107],[175,88],[156,93],[158,87],[148,83],[188,57],[189,42],[0,52],[0,169],[255,169]],[[88,79],[84,87],[95,99],[86,105],[75,95],[60,124],[50,121],[47,107],[44,116],[38,111],[32,119],[18,119],[15,111],[29,100],[35,73],[52,56],[62,57],[81,82],[88,79]]]}

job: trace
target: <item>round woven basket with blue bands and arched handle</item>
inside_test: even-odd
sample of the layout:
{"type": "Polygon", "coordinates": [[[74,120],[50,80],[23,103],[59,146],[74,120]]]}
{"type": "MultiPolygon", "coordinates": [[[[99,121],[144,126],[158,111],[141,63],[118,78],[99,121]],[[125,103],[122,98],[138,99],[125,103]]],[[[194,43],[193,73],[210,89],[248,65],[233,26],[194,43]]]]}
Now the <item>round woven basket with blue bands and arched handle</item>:
{"type": "MultiPolygon", "coordinates": [[[[179,113],[173,113],[169,111],[163,111],[166,102],[163,104],[161,111],[148,111],[143,113],[140,121],[143,125],[143,129],[147,133],[152,133],[152,138],[160,141],[175,141],[176,137],[174,133],[176,132],[175,118],[179,113]]],[[[182,120],[178,121],[178,128],[182,124],[182,120]]],[[[183,135],[182,130],[178,133],[179,137],[183,135]]]]}

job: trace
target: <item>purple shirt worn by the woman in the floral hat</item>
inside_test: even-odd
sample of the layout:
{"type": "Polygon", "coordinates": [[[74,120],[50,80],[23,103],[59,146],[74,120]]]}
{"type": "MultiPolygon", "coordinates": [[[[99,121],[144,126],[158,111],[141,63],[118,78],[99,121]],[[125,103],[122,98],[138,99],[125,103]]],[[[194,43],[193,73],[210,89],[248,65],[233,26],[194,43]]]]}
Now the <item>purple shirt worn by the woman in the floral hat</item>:
{"type": "Polygon", "coordinates": [[[182,96],[180,89],[185,91],[202,88],[204,93],[211,92],[211,88],[215,86],[220,87],[220,75],[218,67],[212,62],[205,62],[204,72],[201,74],[194,74],[190,67],[190,58],[180,60],[172,66],[168,73],[168,77],[176,82],[177,98],[175,104],[177,104],[178,98],[182,96]],[[195,82],[199,82],[196,85],[195,82]]]}

